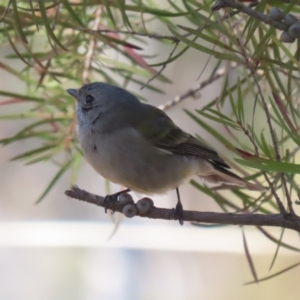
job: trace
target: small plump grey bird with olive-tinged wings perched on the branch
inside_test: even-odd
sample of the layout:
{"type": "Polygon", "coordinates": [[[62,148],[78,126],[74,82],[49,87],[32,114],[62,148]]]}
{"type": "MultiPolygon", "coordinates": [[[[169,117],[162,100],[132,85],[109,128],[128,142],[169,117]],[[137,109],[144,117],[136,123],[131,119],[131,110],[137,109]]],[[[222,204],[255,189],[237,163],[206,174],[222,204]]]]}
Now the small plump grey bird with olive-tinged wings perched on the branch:
{"type": "Polygon", "coordinates": [[[86,160],[127,191],[158,195],[176,189],[179,214],[178,187],[194,176],[265,191],[233,173],[213,148],[180,129],[164,111],[127,90],[93,82],[66,91],[76,99],[76,130],[86,160]]]}

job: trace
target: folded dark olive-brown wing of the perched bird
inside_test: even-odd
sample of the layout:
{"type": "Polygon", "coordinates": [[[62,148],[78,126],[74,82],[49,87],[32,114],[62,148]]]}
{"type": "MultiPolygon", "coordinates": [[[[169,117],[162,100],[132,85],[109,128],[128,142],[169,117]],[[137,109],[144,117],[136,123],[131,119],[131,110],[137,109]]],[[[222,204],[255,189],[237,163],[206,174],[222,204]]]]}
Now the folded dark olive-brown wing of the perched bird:
{"type": "Polygon", "coordinates": [[[163,111],[144,105],[147,106],[147,114],[137,128],[149,143],[174,154],[193,155],[230,168],[214,149],[181,130],[163,111]]]}

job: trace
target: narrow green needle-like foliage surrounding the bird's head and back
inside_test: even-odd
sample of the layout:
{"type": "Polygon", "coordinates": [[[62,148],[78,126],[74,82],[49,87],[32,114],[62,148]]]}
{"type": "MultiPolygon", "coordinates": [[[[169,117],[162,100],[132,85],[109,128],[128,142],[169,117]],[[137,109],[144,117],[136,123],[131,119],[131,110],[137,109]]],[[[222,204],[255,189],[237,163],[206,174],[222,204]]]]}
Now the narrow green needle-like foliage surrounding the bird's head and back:
{"type": "MultiPolygon", "coordinates": [[[[192,184],[211,196],[224,212],[271,214],[278,212],[277,192],[283,202],[282,189],[288,200],[298,197],[299,40],[284,44],[276,28],[238,11],[212,12],[213,3],[207,0],[8,2],[0,5],[0,44],[13,49],[14,54],[7,58],[22,61],[23,69],[19,72],[3,61],[0,67],[26,83],[26,92],[1,90],[5,100],[0,107],[28,103],[28,111],[1,114],[0,119],[28,119],[30,125],[0,143],[7,146],[38,139],[38,148],[13,159],[26,164],[51,159],[58,164],[56,176],[39,200],[67,169],[74,170],[74,178],[82,155],[74,138],[73,100],[64,89],[99,80],[125,88],[134,82],[162,93],[157,82],[170,83],[164,67],[189,48],[211,58],[215,67],[206,85],[221,80],[222,91],[206,106],[186,112],[235,154],[234,160],[227,158],[232,166],[268,190],[249,194],[230,188],[231,194],[224,194],[221,189],[212,190],[195,181],[192,184]],[[168,34],[153,32],[154,21],[168,34]],[[153,40],[169,47],[165,60],[145,54],[153,40]],[[233,71],[235,83],[230,80],[233,71]],[[230,114],[223,111],[225,105],[230,114]],[[216,131],[211,121],[224,126],[232,139],[216,131]],[[56,160],[61,152],[67,152],[67,158],[56,160]],[[232,201],[232,194],[238,202],[232,201]]],[[[261,0],[252,9],[268,14],[272,6],[285,13],[300,12],[298,1],[261,0]]],[[[278,246],[291,248],[269,238],[278,246]]]]}

